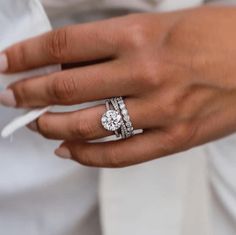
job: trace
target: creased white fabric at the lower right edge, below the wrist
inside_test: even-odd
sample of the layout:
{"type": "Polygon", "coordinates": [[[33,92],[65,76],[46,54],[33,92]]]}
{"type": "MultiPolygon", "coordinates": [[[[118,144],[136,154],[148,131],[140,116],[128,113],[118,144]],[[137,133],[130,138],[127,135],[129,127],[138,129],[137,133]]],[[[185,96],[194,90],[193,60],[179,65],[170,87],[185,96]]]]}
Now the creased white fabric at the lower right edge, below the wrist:
{"type": "Polygon", "coordinates": [[[212,233],[236,234],[236,135],[208,145],[212,233]]]}

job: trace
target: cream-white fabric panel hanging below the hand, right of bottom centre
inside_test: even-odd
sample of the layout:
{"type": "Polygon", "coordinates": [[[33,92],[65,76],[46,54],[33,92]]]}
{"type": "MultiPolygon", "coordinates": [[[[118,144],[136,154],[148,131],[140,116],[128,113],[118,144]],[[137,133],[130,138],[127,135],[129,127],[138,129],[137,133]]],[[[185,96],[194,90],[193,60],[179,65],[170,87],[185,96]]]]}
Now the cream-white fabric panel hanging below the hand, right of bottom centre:
{"type": "Polygon", "coordinates": [[[206,235],[205,153],[198,148],[127,169],[103,171],[105,235],[206,235]]]}

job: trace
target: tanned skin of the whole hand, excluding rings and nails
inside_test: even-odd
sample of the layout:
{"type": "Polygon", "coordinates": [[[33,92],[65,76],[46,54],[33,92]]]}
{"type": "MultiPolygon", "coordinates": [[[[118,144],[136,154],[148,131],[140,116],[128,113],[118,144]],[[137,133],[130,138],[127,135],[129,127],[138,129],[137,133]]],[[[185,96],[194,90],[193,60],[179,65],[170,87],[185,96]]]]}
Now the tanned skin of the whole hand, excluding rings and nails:
{"type": "Polygon", "coordinates": [[[133,14],[68,26],[8,48],[6,73],[86,62],[9,87],[16,107],[125,97],[135,129],[127,140],[100,119],[105,105],[37,120],[44,137],[81,164],[124,167],[219,139],[236,130],[236,8],[133,14]]]}

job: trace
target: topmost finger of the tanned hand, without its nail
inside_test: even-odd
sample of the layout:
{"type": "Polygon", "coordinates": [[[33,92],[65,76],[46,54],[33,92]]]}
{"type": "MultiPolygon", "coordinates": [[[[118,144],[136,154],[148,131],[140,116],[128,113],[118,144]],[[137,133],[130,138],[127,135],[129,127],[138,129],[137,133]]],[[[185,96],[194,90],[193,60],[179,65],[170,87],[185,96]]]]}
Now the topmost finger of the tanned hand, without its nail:
{"type": "Polygon", "coordinates": [[[113,57],[114,30],[106,21],[100,21],[64,27],[20,42],[3,52],[8,61],[6,72],[113,57]]]}

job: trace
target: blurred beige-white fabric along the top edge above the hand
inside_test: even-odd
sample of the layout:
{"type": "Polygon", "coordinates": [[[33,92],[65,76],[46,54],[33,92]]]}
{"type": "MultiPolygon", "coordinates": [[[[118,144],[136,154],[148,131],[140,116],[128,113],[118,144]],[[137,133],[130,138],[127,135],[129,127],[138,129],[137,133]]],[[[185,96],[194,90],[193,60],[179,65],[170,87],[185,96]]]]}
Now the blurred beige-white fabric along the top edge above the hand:
{"type": "Polygon", "coordinates": [[[90,21],[122,11],[169,11],[195,7],[204,0],[41,0],[50,19],[60,23],[90,21]],[[68,14],[69,13],[69,14],[68,14]],[[69,18],[69,19],[68,19],[69,18]]]}

